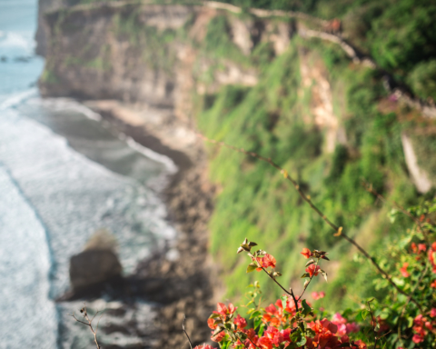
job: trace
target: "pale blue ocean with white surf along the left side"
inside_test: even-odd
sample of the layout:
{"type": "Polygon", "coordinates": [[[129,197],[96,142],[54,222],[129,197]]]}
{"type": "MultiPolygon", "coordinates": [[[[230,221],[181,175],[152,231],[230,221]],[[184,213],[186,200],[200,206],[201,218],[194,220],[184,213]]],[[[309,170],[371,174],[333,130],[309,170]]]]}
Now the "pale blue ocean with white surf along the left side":
{"type": "MultiPolygon", "coordinates": [[[[173,241],[159,192],[177,169],[84,105],[39,96],[36,15],[36,0],[0,0],[0,348],[78,349],[92,338],[67,315],[82,303],[54,303],[70,287],[70,257],[104,229],[129,274],[173,241]]],[[[153,318],[150,304],[138,302],[134,316],[153,318]]],[[[104,341],[141,339],[113,333],[104,341]]]]}

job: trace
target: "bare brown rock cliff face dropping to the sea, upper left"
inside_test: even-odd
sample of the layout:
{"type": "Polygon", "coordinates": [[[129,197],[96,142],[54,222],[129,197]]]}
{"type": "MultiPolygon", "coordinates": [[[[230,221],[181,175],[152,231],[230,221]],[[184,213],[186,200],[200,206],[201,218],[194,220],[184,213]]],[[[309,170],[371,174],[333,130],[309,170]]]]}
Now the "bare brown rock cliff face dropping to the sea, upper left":
{"type": "MultiPolygon", "coordinates": [[[[47,1],[41,11],[62,4],[47,1]]],[[[192,109],[188,101],[193,92],[255,85],[258,72],[244,64],[243,55],[261,39],[281,53],[289,44],[291,25],[232,17],[225,30],[233,38],[230,48],[240,49],[242,59],[227,59],[217,67],[202,43],[218,15],[223,13],[203,6],[128,3],[77,5],[48,13],[42,26],[48,28],[49,39],[42,40],[41,47],[49,45],[41,93],[139,102],[183,115],[192,109]],[[213,83],[206,84],[211,74],[213,83]]]]}

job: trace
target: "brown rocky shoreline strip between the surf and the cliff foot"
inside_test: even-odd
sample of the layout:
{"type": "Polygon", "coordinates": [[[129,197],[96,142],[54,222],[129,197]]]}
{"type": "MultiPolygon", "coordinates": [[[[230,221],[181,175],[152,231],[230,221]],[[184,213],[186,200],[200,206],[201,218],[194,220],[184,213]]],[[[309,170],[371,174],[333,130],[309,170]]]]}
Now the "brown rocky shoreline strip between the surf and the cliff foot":
{"type": "MultiPolygon", "coordinates": [[[[186,344],[182,330],[184,315],[193,345],[209,343],[211,334],[207,318],[213,311],[222,285],[216,281],[218,270],[208,253],[207,224],[213,212],[215,188],[207,180],[203,143],[195,137],[193,144],[183,147],[182,141],[163,137],[163,130],[180,131],[182,128],[188,134],[193,132],[189,125],[174,116],[171,123],[164,118],[165,122],[150,127],[145,120],[144,123],[138,122],[138,118],[126,120],[125,115],[120,115],[119,105],[115,101],[112,101],[112,107],[107,107],[106,103],[104,108],[95,101],[83,103],[101,115],[102,121],[107,122],[114,131],[131,137],[134,142],[160,155],[168,156],[178,167],[173,175],[168,176],[168,184],[160,196],[168,210],[167,219],[178,233],[174,247],[179,257],[169,261],[165,251],[157,251],[140,262],[134,275],[129,278],[140,280],[144,298],[157,303],[155,325],[159,339],[156,348],[186,344]],[[170,146],[171,143],[176,146],[170,146]]],[[[124,111],[129,107],[124,105],[124,111]]],[[[130,112],[134,115],[132,109],[130,112]]]]}

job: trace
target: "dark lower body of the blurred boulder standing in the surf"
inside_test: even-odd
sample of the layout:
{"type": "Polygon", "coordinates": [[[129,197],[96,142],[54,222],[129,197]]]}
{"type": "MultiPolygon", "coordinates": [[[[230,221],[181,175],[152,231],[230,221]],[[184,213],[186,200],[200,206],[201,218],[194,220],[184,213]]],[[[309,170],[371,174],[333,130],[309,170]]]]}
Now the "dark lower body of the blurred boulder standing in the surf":
{"type": "Polygon", "coordinates": [[[114,252],[86,250],[70,259],[70,281],[74,293],[121,277],[123,268],[114,252]]]}

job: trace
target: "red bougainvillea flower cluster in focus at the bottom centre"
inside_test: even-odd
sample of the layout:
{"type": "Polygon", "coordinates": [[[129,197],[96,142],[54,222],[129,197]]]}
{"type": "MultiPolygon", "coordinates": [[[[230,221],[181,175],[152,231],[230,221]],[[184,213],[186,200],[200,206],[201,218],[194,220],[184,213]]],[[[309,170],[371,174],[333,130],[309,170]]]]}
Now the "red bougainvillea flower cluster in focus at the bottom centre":
{"type": "MultiPolygon", "coordinates": [[[[275,271],[276,260],[271,254],[263,250],[252,253],[253,242],[243,241],[238,253],[245,251],[251,258],[247,267],[247,273],[254,270],[263,271],[275,284],[278,284],[283,291],[286,288],[277,281],[281,275],[275,271]],[[268,268],[272,268],[269,270],[268,268]]],[[[333,349],[350,347],[353,349],[365,349],[362,341],[352,341],[349,334],[359,330],[355,323],[349,323],[341,314],[334,314],[332,321],[325,316],[318,314],[305,299],[302,298],[307,286],[318,274],[325,278],[327,274],[321,269],[320,261],[329,260],[326,252],[318,250],[302,250],[307,259],[311,258],[305,265],[305,278],[302,294],[296,295],[292,288],[283,294],[273,304],[262,306],[256,297],[261,293],[260,286],[256,282],[252,287],[254,291],[249,293],[251,300],[247,306],[249,310],[248,319],[240,314],[235,314],[236,307],[233,304],[217,304],[217,310],[213,312],[208,320],[209,327],[213,330],[211,339],[219,342],[225,348],[245,349],[272,349],[272,348],[298,348],[306,347],[311,349],[333,349]],[[257,304],[256,304],[257,303],[257,304]],[[251,326],[248,326],[251,324],[251,326]]],[[[313,299],[320,299],[325,293],[312,293],[313,299]]],[[[195,349],[210,349],[209,346],[197,346],[195,349]]]]}

